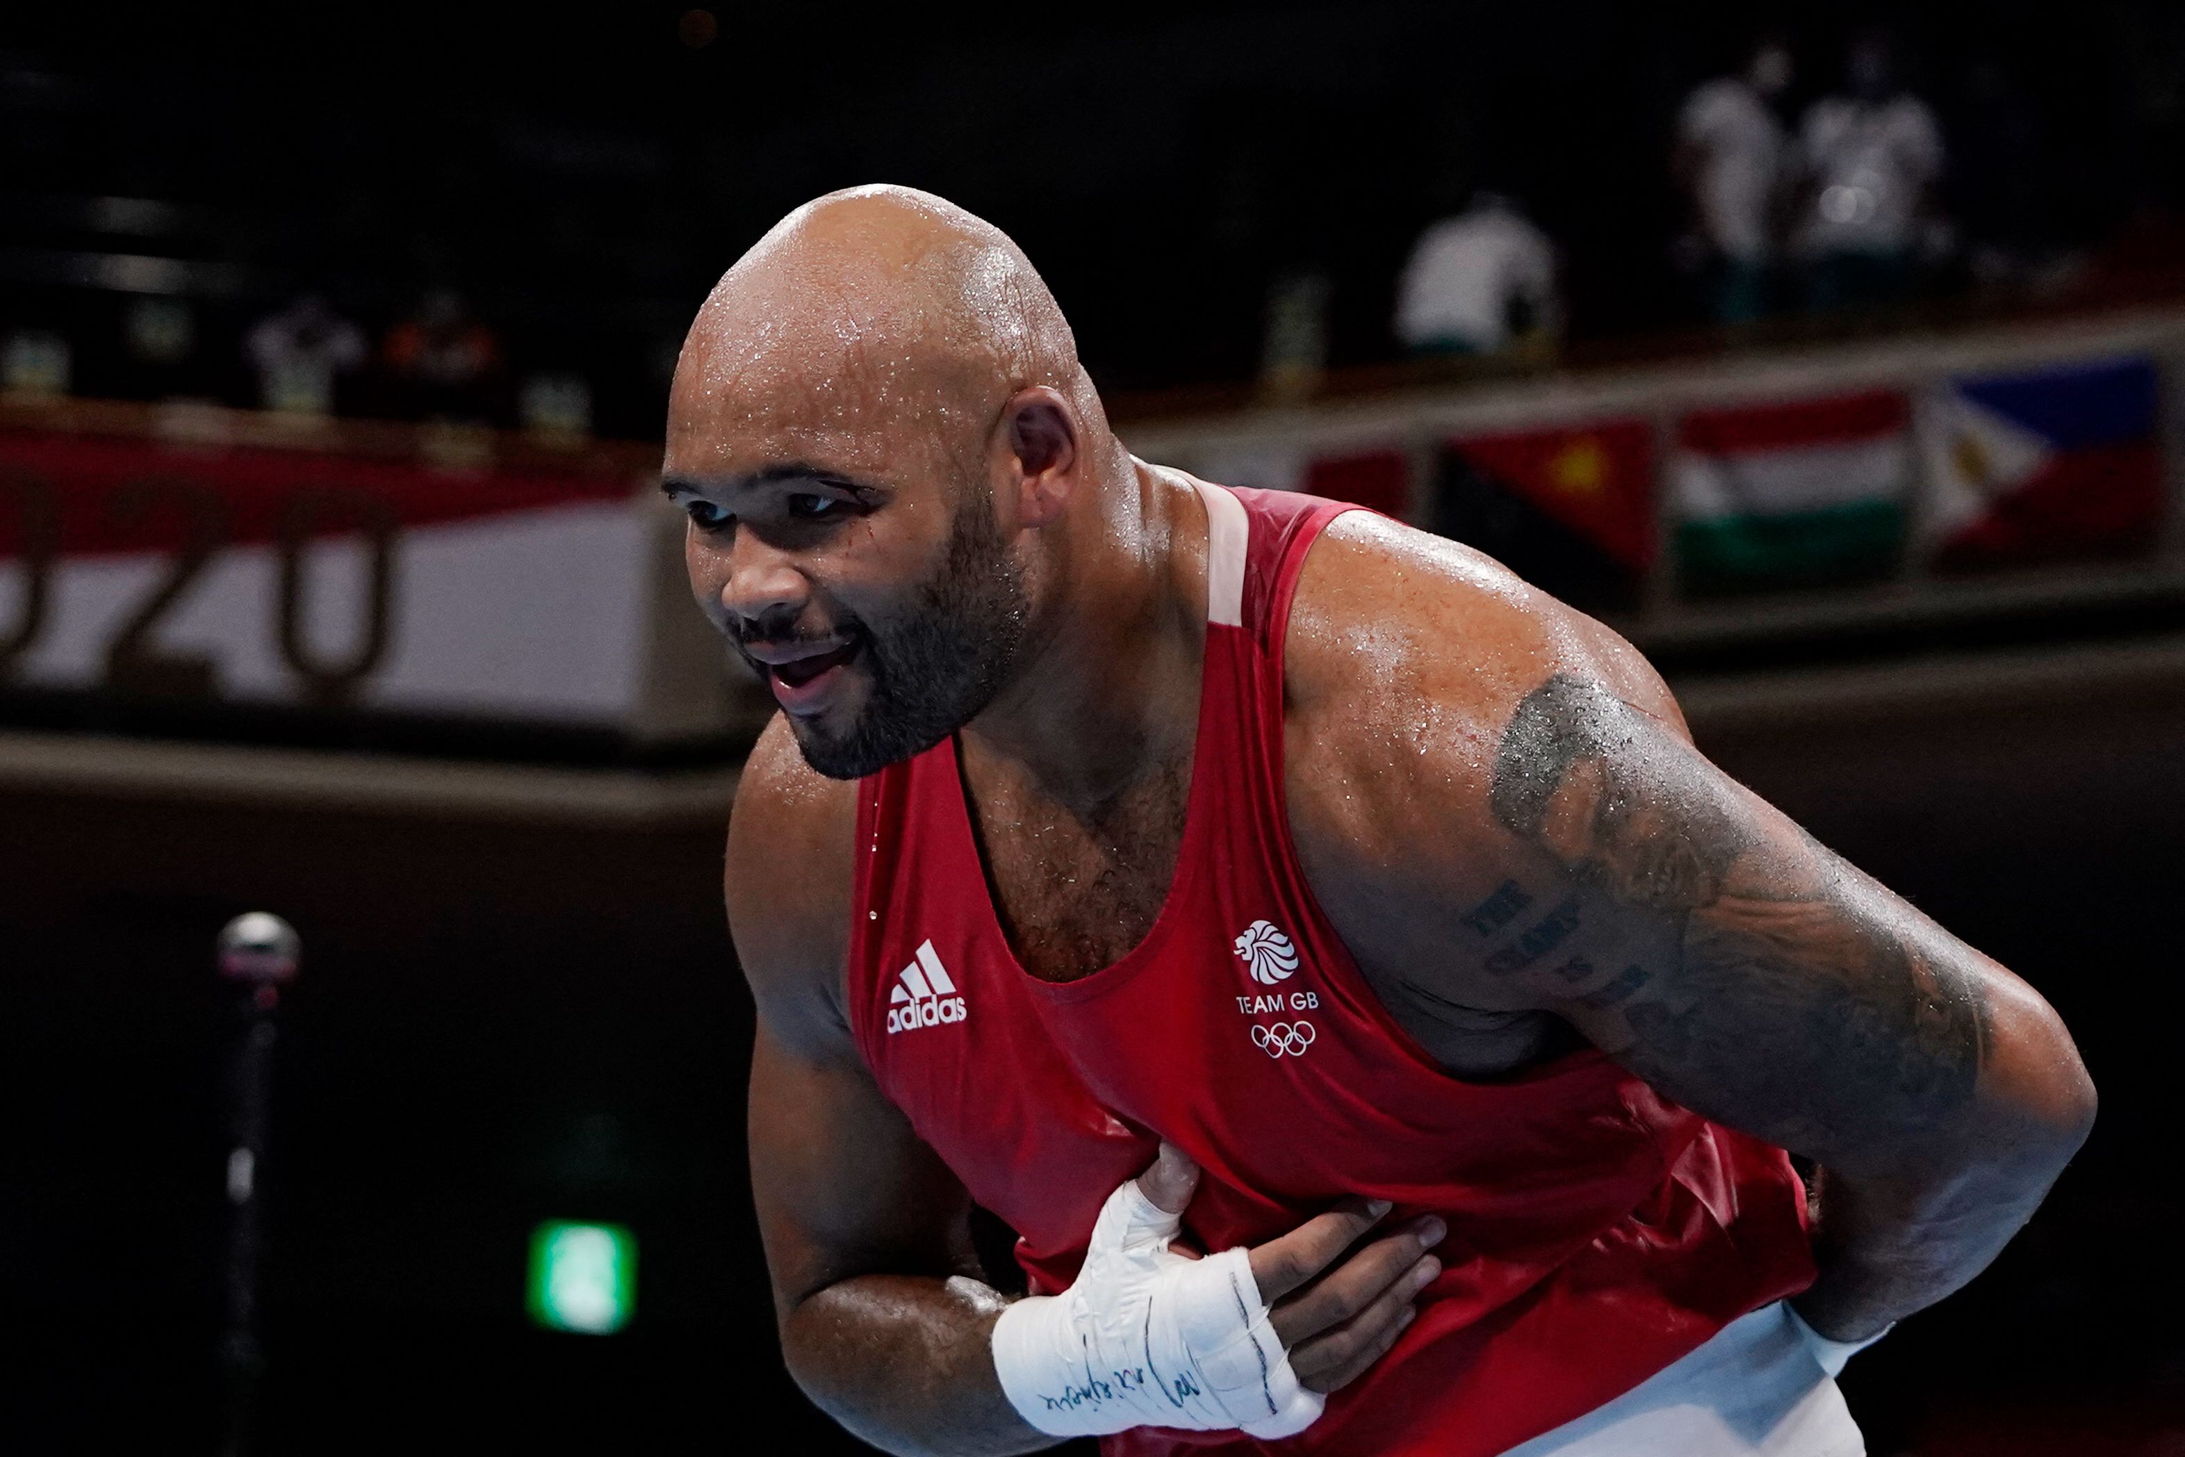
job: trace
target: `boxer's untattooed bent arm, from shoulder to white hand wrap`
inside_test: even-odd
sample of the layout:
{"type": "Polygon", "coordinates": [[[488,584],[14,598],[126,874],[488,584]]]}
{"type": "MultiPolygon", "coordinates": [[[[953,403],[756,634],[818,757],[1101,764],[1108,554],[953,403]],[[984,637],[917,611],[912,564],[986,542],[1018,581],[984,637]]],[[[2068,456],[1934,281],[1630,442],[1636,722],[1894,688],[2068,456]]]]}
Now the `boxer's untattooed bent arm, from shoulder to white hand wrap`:
{"type": "Polygon", "coordinates": [[[1005,1298],[979,1278],[970,1199],[881,1097],[841,1007],[850,784],[776,721],[728,834],[728,913],[758,1000],[749,1145],[782,1357],[804,1394],[891,1453],[1053,1446],[1001,1394],[1005,1298]]]}

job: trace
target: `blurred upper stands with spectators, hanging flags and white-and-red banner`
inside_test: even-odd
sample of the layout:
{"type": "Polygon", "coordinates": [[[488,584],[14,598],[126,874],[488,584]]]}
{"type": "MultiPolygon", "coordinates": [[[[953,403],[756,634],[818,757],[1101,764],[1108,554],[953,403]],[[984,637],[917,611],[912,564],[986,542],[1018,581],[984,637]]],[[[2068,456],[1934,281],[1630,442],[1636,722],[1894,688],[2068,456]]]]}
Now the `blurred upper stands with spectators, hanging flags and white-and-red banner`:
{"type": "Polygon", "coordinates": [[[784,17],[334,13],[336,74],[114,15],[0,46],[13,723],[732,751],[664,391],[717,271],[874,177],[1023,240],[1141,454],[1468,542],[1669,671],[2185,625],[2143,0],[896,20],[822,114],[747,66],[784,17]]]}

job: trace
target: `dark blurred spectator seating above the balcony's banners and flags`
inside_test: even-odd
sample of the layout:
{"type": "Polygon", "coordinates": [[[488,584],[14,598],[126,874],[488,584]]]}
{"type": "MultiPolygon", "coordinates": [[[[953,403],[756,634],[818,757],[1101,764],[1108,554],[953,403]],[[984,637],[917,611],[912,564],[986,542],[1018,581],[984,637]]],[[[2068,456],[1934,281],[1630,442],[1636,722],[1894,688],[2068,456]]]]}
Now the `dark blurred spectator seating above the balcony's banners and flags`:
{"type": "Polygon", "coordinates": [[[11,31],[13,393],[651,439],[719,269],[865,179],[1009,227],[1141,413],[2185,295],[2154,0],[898,17],[819,109],[747,13],[336,11],[339,74],[240,17],[11,31]]]}

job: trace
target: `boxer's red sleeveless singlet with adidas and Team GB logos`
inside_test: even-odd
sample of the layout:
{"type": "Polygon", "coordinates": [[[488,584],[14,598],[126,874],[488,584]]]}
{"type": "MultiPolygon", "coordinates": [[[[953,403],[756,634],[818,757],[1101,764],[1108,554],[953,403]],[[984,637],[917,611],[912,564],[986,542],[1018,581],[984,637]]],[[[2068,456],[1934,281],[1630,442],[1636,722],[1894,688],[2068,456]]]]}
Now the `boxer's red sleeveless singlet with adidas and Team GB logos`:
{"type": "MultiPolygon", "coordinates": [[[[1444,1073],[1379,1003],[1289,841],[1283,631],[1337,502],[1200,485],[1206,679],[1176,880],[1114,966],[1047,983],[985,889],[955,741],[859,786],[850,1020],[881,1090],[1064,1289],[1108,1193],[1167,1138],[1184,1232],[1254,1245],[1344,1195],[1449,1223],[1418,1319],[1298,1453],[1495,1457],[1814,1278],[1790,1160],[1586,1049],[1444,1073]]],[[[1136,1429],[1110,1457],[1269,1444],[1136,1429]]]]}

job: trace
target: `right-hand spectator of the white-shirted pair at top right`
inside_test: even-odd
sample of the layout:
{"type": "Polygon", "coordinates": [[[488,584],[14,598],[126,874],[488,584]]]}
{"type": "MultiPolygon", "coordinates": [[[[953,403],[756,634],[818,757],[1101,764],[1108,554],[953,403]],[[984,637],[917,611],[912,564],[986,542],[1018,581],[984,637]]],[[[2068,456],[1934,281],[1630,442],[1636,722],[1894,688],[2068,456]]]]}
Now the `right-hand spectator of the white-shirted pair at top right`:
{"type": "Polygon", "coordinates": [[[1921,194],[1942,175],[1942,129],[1925,103],[1816,100],[1798,153],[1814,190],[1803,253],[1901,253],[1918,240],[1921,194]]]}

